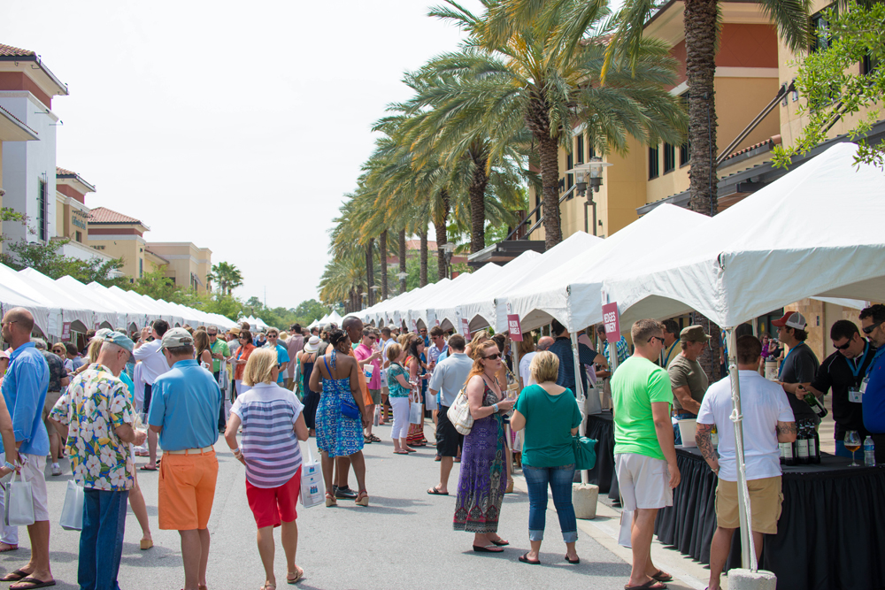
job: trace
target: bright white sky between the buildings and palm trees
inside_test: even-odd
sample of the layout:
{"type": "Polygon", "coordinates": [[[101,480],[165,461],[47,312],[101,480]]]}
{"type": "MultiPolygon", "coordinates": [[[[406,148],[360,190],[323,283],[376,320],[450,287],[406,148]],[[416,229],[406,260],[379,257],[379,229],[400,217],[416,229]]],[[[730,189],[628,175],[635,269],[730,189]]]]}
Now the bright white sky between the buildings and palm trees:
{"type": "Polygon", "coordinates": [[[212,249],[242,271],[236,295],[295,307],[317,296],[370,126],[409,96],[404,70],[457,48],[431,4],[4,2],[0,42],[67,83],[58,165],[96,186],[90,207],[142,219],[148,241],[212,249]]]}

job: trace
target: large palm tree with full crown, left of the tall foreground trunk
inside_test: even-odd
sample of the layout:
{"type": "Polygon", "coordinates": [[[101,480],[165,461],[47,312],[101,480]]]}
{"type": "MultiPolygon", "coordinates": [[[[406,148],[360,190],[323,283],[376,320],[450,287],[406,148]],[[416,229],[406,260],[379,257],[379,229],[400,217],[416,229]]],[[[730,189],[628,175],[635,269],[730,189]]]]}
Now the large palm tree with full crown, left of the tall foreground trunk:
{"type": "MultiPolygon", "coordinates": [[[[489,130],[491,154],[531,132],[543,185],[545,246],[562,239],[558,203],[558,149],[570,148],[573,126],[596,131],[595,147],[626,151],[632,135],[646,143],[681,142],[684,112],[666,85],[673,84],[676,62],[663,43],[643,40],[635,59],[636,78],[612,72],[600,84],[604,65],[603,29],[569,49],[556,42],[556,22],[548,27],[521,23],[500,2],[482,0],[483,18],[447,0],[432,16],[454,20],[469,32],[462,50],[431,60],[425,71],[447,73],[435,89],[446,118],[466,129],[489,130]]],[[[579,0],[574,0],[578,4],[579,0]]],[[[535,0],[538,4],[540,0],[535,0]]],[[[590,11],[589,23],[609,16],[604,5],[590,11]]]]}

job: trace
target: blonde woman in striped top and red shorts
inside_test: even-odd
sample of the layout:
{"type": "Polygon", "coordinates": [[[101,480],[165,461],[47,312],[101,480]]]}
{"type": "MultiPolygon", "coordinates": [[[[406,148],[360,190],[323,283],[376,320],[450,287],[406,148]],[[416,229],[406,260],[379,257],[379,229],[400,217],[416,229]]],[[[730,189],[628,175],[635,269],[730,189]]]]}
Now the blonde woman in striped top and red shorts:
{"type": "Polygon", "coordinates": [[[294,393],[277,385],[280,369],[275,349],[257,349],[249,356],[242,382],[249,391],[230,409],[224,438],[246,466],[246,498],[258,525],[258,554],[265,567],[262,588],[276,587],[273,573],[273,527],[281,526],[286,553],[286,581],[295,584],[304,570],[295,563],[298,547],[296,503],[301,491],[301,445],[307,440],[304,405],[294,393]],[[242,425],[242,448],[236,441],[242,425]]]}

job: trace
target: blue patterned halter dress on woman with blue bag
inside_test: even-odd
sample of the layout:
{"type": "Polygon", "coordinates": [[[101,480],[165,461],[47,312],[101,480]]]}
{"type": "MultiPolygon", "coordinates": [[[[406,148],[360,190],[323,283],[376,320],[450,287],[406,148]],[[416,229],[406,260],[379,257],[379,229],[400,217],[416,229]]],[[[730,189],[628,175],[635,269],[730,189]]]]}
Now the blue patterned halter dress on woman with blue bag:
{"type": "Polygon", "coordinates": [[[350,377],[331,379],[336,355],[333,350],[331,363],[327,356],[322,358],[329,379],[323,379],[323,393],[317,407],[317,447],[329,456],[349,456],[363,450],[363,423],[359,418],[347,418],[341,413],[342,400],[350,398],[353,401],[353,395],[350,393],[350,377]]]}

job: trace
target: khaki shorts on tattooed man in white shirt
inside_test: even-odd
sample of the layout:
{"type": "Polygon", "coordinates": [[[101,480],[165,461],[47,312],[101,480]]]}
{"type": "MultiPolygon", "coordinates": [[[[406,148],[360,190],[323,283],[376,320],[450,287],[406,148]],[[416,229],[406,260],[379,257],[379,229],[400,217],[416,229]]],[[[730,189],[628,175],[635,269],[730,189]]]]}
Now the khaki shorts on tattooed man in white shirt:
{"type": "MultiPolygon", "coordinates": [[[[776,478],[750,479],[750,528],[757,533],[777,534],[777,521],[781,517],[781,476],[776,478]]],[[[720,479],[716,487],[716,521],[726,529],[741,525],[737,509],[737,482],[720,479]]]]}

